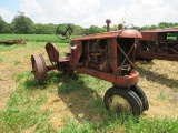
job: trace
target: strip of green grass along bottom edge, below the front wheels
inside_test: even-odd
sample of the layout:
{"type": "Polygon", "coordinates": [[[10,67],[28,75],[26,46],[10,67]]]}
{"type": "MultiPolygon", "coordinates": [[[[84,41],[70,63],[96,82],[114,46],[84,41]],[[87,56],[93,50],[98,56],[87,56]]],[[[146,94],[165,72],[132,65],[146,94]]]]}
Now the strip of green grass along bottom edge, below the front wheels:
{"type": "Polygon", "coordinates": [[[116,116],[100,123],[83,121],[80,125],[68,119],[60,133],[177,133],[178,121],[164,119],[136,119],[135,116],[116,116]]]}

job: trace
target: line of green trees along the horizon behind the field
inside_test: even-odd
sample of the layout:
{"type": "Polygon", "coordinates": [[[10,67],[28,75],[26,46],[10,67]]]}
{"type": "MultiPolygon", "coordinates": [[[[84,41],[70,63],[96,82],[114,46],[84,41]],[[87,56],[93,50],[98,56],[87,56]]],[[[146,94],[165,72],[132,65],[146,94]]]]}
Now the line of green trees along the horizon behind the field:
{"type": "MultiPolygon", "coordinates": [[[[99,28],[97,25],[90,25],[89,28],[82,28],[73,23],[69,23],[73,30],[73,35],[81,34],[92,34],[101,33],[107,31],[107,27],[103,25],[99,28]]],[[[17,16],[12,19],[11,23],[7,23],[0,16],[0,34],[4,33],[14,33],[14,34],[55,34],[58,24],[48,23],[34,23],[29,17],[26,17],[23,12],[18,12],[17,16]]],[[[158,25],[144,25],[144,27],[132,27],[139,31],[149,30],[149,29],[162,29],[162,28],[172,28],[178,27],[177,22],[160,22],[158,25]]],[[[127,27],[126,27],[127,28],[127,27]]],[[[110,30],[116,31],[118,29],[117,24],[113,24],[110,30]]]]}

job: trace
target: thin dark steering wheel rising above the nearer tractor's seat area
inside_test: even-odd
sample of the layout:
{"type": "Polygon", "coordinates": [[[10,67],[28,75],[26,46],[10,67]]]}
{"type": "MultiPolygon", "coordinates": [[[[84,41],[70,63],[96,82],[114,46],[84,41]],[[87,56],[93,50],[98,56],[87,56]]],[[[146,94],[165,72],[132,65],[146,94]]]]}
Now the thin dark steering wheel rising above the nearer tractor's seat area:
{"type": "Polygon", "coordinates": [[[72,32],[73,30],[71,29],[69,24],[59,24],[56,30],[56,34],[60,40],[70,39],[70,35],[72,32]]]}

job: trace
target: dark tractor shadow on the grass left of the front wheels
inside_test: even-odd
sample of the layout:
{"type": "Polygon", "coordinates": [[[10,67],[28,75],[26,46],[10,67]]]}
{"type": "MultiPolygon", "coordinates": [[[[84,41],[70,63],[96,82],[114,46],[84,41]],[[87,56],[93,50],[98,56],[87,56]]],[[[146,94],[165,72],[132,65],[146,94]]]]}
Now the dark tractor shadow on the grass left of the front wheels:
{"type": "Polygon", "coordinates": [[[107,115],[109,117],[109,112],[103,105],[102,95],[98,92],[101,90],[95,90],[95,86],[93,89],[89,88],[88,83],[78,74],[70,76],[60,74],[59,78],[63,81],[58,86],[58,95],[78,122],[99,122],[107,115]]]}

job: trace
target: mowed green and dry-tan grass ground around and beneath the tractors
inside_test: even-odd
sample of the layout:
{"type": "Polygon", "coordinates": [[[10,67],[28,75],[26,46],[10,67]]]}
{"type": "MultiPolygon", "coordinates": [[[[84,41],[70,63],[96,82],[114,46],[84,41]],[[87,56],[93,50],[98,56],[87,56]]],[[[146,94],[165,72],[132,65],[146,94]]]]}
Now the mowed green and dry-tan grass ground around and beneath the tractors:
{"type": "MultiPolygon", "coordinates": [[[[61,54],[69,51],[68,43],[56,44],[61,54]]],[[[0,133],[178,132],[178,62],[137,62],[138,85],[150,108],[136,117],[105,109],[102,98],[112,84],[97,78],[51,71],[47,83],[38,85],[30,58],[42,54],[50,64],[44,45],[0,44],[0,133]]]]}

